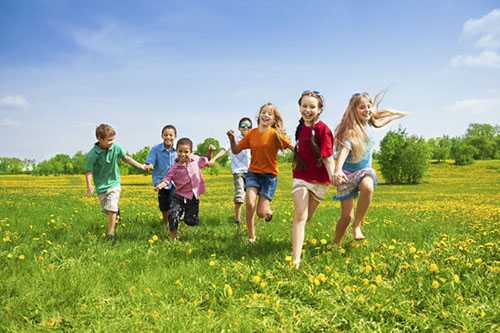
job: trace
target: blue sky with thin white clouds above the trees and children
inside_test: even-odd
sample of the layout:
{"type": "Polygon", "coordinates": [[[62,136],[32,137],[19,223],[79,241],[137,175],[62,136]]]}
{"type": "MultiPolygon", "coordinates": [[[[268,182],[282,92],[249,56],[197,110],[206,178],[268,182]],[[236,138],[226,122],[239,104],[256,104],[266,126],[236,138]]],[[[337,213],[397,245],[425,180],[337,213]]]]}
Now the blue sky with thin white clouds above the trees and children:
{"type": "Polygon", "coordinates": [[[166,124],[226,142],[272,101],[293,133],[305,89],[333,129],[349,97],[424,137],[500,123],[498,1],[0,1],[0,156],[88,151],[101,123],[135,152],[166,124]]]}

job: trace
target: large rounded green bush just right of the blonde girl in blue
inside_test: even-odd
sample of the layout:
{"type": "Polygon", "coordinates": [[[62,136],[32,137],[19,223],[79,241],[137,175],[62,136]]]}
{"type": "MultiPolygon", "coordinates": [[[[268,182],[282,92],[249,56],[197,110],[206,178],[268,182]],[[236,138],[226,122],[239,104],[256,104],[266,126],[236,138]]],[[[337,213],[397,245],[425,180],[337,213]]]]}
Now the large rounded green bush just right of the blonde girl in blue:
{"type": "Polygon", "coordinates": [[[390,131],[380,143],[380,171],[389,184],[418,184],[427,170],[430,149],[424,139],[404,129],[390,131]]]}

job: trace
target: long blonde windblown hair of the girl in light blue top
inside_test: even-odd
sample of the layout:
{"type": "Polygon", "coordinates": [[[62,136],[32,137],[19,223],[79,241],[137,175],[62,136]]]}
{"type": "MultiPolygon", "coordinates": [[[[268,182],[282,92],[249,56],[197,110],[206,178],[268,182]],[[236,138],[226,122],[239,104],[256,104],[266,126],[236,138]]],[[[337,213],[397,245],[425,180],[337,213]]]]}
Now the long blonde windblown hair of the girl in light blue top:
{"type": "Polygon", "coordinates": [[[368,143],[367,125],[380,128],[387,125],[391,121],[406,115],[404,112],[389,109],[379,110],[379,105],[384,97],[384,94],[384,92],[378,93],[373,99],[366,92],[352,95],[344,115],[342,116],[342,120],[335,129],[336,144],[345,146],[346,140],[351,142],[353,162],[359,161],[365,152],[368,143]],[[358,105],[361,103],[363,98],[367,99],[375,109],[367,123],[362,122],[356,112],[358,105]]]}

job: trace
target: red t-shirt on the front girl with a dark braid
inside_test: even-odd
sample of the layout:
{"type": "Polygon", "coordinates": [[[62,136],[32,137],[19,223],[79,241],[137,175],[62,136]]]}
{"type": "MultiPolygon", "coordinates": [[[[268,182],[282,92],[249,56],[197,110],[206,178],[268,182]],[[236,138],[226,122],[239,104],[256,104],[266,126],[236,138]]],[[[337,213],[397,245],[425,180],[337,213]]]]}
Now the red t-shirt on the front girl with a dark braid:
{"type": "Polygon", "coordinates": [[[313,127],[302,126],[298,139],[298,155],[304,162],[304,169],[295,168],[293,170],[293,178],[302,179],[310,183],[328,184],[330,182],[328,172],[323,163],[318,166],[317,158],[311,146],[313,128],[316,142],[319,143],[321,158],[333,155],[333,134],[324,122],[318,121],[313,127]]]}

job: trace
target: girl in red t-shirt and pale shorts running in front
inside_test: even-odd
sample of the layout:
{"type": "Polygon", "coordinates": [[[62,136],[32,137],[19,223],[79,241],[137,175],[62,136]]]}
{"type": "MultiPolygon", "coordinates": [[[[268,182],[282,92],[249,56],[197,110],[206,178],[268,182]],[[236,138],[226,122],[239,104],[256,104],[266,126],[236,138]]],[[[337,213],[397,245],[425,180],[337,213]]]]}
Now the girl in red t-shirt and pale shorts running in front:
{"type": "Polygon", "coordinates": [[[301,118],[295,130],[292,195],[295,207],[292,224],[292,263],[299,268],[305,224],[325,198],[333,180],[333,134],[319,119],[323,96],[306,90],[299,98],[301,118]]]}

